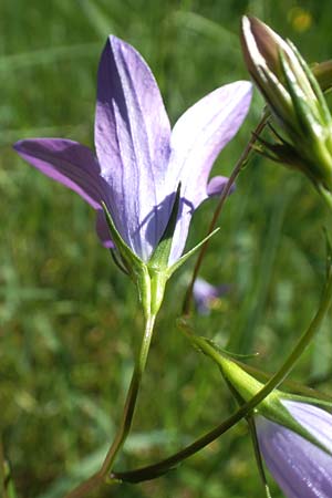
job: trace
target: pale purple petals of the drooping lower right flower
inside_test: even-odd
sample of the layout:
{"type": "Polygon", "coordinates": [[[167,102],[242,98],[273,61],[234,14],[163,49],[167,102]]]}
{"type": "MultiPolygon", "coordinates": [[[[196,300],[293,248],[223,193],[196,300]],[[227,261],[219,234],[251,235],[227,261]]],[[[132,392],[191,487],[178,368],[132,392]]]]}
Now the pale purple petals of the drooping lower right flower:
{"type": "MultiPolygon", "coordinates": [[[[317,406],[282,400],[304,430],[332,452],[332,415],[317,406]]],[[[290,428],[258,415],[259,447],[288,498],[331,498],[332,456],[290,428]]]]}

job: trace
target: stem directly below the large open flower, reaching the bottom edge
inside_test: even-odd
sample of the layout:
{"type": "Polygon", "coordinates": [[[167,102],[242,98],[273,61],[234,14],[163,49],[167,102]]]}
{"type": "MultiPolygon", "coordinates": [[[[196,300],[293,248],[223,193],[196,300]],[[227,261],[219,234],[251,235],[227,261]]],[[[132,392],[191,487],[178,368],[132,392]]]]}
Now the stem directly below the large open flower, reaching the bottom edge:
{"type": "Polygon", "coordinates": [[[73,489],[69,495],[66,495],[66,498],[81,498],[85,496],[89,491],[100,486],[104,480],[107,480],[106,479],[107,475],[112,471],[115,458],[118,452],[122,449],[123,445],[125,444],[125,440],[132,428],[141,381],[145,370],[149,345],[153,336],[155,319],[156,319],[155,315],[147,317],[146,319],[141,350],[136,359],[131,385],[125,401],[121,425],[112,443],[112,446],[108,449],[105,460],[101,469],[96,474],[94,474],[87,480],[85,480],[75,489],[73,489]]]}

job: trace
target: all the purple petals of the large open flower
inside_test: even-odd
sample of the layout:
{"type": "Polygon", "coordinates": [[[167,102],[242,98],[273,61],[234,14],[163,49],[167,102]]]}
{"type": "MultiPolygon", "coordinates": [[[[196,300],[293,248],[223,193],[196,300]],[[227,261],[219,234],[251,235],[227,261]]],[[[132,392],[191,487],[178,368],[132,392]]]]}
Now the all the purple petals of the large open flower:
{"type": "Polygon", "coordinates": [[[96,209],[98,236],[113,247],[104,201],[123,240],[143,261],[148,261],[165,231],[180,181],[170,264],[184,250],[194,210],[225,186],[227,179],[216,177],[209,188],[209,173],[241,125],[250,98],[249,82],[217,89],[190,107],[170,133],[146,62],[133,46],[111,35],[98,66],[96,156],[63,138],[24,139],[14,148],[96,209]]]}

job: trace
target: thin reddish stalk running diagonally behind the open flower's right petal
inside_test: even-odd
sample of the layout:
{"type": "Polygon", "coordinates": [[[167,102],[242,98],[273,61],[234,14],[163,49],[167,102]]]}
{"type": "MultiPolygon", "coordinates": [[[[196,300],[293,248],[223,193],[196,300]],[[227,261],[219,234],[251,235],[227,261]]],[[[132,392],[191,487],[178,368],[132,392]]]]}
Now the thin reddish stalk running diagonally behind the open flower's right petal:
{"type": "MultiPolygon", "coordinates": [[[[251,138],[249,139],[248,144],[246,145],[246,147],[245,147],[242,154],[240,155],[237,164],[235,165],[234,170],[231,172],[231,175],[228,178],[228,181],[227,181],[227,184],[226,184],[226,186],[222,189],[222,193],[220,195],[220,199],[219,199],[218,206],[217,206],[217,208],[215,210],[215,214],[212,216],[211,222],[209,225],[209,228],[208,228],[208,231],[207,231],[207,236],[209,236],[214,231],[214,229],[216,228],[218,218],[220,216],[220,212],[222,210],[222,207],[225,205],[225,200],[227,199],[229,190],[231,189],[231,186],[234,185],[235,180],[237,179],[238,175],[240,174],[240,172],[241,172],[241,169],[243,167],[243,164],[248,159],[249,154],[250,154],[250,152],[252,149],[252,146],[256,143],[257,137],[263,131],[263,128],[264,128],[264,126],[267,124],[267,121],[268,121],[268,115],[264,113],[263,117],[260,120],[260,122],[258,123],[257,127],[255,128],[255,131],[253,131],[253,133],[251,135],[251,138]]],[[[188,286],[188,289],[187,289],[187,292],[186,292],[186,295],[185,295],[185,300],[184,300],[184,307],[183,307],[183,314],[184,315],[188,315],[189,314],[194,284],[195,284],[195,281],[197,279],[199,269],[201,267],[203,259],[204,259],[204,257],[206,255],[208,245],[209,245],[209,239],[201,246],[201,249],[199,251],[199,255],[198,255],[198,258],[197,258],[194,271],[193,271],[193,277],[191,277],[190,283],[188,286]]]]}

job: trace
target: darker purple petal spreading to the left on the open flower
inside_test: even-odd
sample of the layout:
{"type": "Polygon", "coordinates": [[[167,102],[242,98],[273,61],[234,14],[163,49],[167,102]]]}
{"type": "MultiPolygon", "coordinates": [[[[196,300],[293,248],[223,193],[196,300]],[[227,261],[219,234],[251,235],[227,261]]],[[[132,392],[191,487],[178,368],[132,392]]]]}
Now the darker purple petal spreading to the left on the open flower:
{"type": "Polygon", "coordinates": [[[13,148],[44,175],[80,194],[93,208],[107,200],[107,184],[100,176],[98,163],[90,148],[62,138],[34,138],[13,148]]]}

